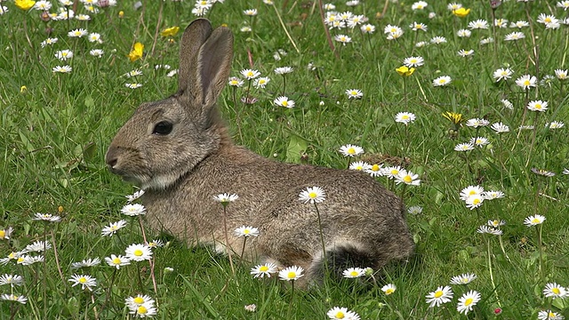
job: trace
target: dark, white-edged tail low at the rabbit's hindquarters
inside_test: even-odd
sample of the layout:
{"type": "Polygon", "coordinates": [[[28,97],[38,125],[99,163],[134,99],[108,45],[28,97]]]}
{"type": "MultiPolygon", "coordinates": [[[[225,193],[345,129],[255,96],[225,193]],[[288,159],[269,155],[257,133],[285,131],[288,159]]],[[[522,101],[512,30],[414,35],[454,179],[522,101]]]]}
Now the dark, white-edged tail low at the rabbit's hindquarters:
{"type": "MultiPolygon", "coordinates": [[[[355,242],[341,242],[317,253],[309,268],[311,279],[324,279],[326,274],[341,279],[348,268],[375,268],[378,264],[377,253],[367,250],[355,242]]],[[[318,280],[317,280],[318,281],[318,280]]]]}

